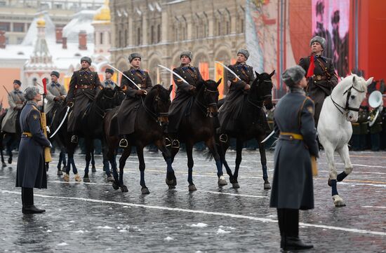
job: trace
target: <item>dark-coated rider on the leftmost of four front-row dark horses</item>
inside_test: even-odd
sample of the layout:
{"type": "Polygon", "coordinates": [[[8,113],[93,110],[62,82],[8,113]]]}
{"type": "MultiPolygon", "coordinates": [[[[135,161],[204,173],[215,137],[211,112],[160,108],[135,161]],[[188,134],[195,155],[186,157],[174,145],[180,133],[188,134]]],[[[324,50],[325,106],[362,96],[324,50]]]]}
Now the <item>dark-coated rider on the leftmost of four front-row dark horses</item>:
{"type": "Polygon", "coordinates": [[[81,125],[81,115],[88,103],[93,102],[97,90],[100,90],[100,80],[98,73],[91,71],[91,58],[81,57],[81,69],[74,71],[67,95],[67,105],[73,107],[67,123],[67,131],[72,133],[71,142],[78,143],[79,125],[81,125]]]}

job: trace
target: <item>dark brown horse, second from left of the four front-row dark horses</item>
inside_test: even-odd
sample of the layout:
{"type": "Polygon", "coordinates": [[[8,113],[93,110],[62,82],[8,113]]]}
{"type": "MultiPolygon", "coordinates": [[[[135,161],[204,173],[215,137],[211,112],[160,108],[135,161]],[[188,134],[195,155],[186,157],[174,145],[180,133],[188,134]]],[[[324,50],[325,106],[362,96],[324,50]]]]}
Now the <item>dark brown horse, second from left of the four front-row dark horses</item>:
{"type": "Polygon", "coordinates": [[[155,144],[162,152],[166,160],[166,184],[174,188],[177,185],[177,179],[174,175],[174,170],[171,165],[171,153],[166,148],[164,129],[168,121],[168,109],[171,104],[170,100],[171,88],[166,90],[161,85],[156,85],[149,91],[145,99],[142,97],[141,106],[138,108],[137,116],[135,118],[135,130],[131,135],[128,135],[128,146],[124,148],[121,158],[119,159],[119,175],[117,172],[117,163],[115,156],[117,154],[117,147],[119,146],[119,136],[110,135],[110,128],[112,126],[112,118],[117,114],[118,107],[109,111],[105,117],[104,128],[105,137],[107,139],[107,158],[112,165],[114,182],[112,184],[114,189],[121,188],[122,192],[128,191],[124,185],[124,167],[126,160],[131,153],[131,147],[135,146],[137,149],[137,156],[140,162],[140,186],[142,186],[142,194],[149,194],[149,189],[145,184],[145,159],[143,157],[143,149],[149,144],[155,144]]]}

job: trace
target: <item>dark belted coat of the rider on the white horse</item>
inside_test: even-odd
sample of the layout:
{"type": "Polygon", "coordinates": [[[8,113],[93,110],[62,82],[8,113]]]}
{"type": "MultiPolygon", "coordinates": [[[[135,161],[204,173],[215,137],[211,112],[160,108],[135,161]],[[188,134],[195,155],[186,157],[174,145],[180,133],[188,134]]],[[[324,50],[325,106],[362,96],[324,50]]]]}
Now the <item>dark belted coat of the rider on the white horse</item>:
{"type": "MultiPolygon", "coordinates": [[[[307,75],[308,67],[310,67],[310,57],[301,58],[299,61],[300,67],[305,69],[307,75]]],[[[335,74],[333,61],[330,58],[318,57],[314,61],[314,77],[308,78],[308,86],[306,88],[307,96],[309,96],[315,103],[315,125],[318,125],[321,107],[324,99],[331,95],[331,91],[338,84],[338,76],[335,74]],[[323,65],[323,66],[322,66],[323,65]],[[318,80],[318,76],[325,80],[318,80]]]]}

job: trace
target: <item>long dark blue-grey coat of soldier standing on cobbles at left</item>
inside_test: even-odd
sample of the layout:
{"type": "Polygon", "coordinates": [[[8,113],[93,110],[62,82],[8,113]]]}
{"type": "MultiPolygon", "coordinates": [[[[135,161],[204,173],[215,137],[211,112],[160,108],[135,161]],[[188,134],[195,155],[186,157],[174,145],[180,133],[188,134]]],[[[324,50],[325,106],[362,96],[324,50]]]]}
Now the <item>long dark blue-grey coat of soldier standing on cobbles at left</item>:
{"type": "Polygon", "coordinates": [[[40,111],[36,103],[27,102],[20,114],[22,132],[30,132],[32,137],[22,135],[16,170],[16,187],[47,188],[44,147],[50,146],[41,130],[40,111]]]}

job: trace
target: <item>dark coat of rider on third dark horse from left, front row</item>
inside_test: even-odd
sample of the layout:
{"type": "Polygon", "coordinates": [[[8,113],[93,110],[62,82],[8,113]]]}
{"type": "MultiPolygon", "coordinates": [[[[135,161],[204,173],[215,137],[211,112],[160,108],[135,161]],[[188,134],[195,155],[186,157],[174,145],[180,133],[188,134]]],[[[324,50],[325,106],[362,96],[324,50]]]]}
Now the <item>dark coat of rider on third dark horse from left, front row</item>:
{"type": "Polygon", "coordinates": [[[182,78],[187,81],[184,83],[180,78],[173,75],[175,86],[174,100],[171,102],[168,114],[168,132],[176,133],[180,126],[183,116],[186,116],[190,112],[192,102],[194,100],[193,93],[189,92],[190,86],[197,87],[198,83],[202,81],[200,71],[197,67],[177,67],[173,69],[176,74],[179,74],[182,78]]]}

